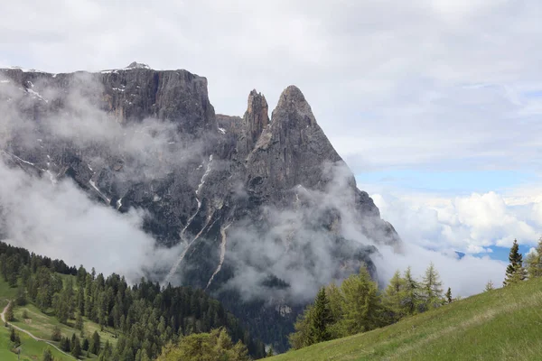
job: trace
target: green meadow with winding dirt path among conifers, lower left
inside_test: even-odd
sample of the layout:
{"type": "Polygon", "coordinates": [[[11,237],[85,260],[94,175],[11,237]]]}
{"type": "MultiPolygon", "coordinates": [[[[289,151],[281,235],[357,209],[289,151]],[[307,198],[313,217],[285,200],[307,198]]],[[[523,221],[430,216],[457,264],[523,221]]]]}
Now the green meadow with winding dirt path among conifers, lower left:
{"type": "MultiPolygon", "coordinates": [[[[61,275],[63,281],[66,281],[66,275],[61,275]]],[[[74,277],[75,278],[75,277],[74,277]]],[[[7,304],[8,300],[13,300],[16,295],[16,288],[10,288],[7,282],[0,277],[0,306],[2,310],[7,304]]],[[[51,330],[54,326],[60,326],[62,335],[70,337],[71,334],[75,333],[79,336],[80,331],[74,329],[70,326],[73,326],[73,320],[70,320],[70,326],[61,324],[54,316],[43,313],[41,310],[38,310],[33,304],[27,304],[26,306],[18,306],[14,308],[14,325],[25,329],[31,332],[37,338],[43,338],[51,340],[51,330]],[[26,310],[30,319],[23,319],[23,310],[26,310]]],[[[100,331],[100,327],[97,323],[89,321],[89,319],[84,318],[84,328],[86,335],[92,335],[95,330],[98,331],[99,336],[103,344],[109,340],[113,345],[117,344],[117,338],[113,338],[113,333],[106,329],[105,331],[100,331]]],[[[44,342],[35,341],[33,338],[28,337],[19,332],[21,340],[23,341],[23,353],[21,359],[41,359],[43,349],[47,347],[44,342]],[[33,356],[33,358],[23,358],[24,355],[33,356]]],[[[58,343],[55,343],[58,346],[58,343]]],[[[12,353],[9,349],[12,347],[12,343],[9,340],[9,330],[4,328],[4,325],[0,328],[0,360],[16,360],[16,355],[12,353]]],[[[72,357],[67,357],[62,355],[60,352],[51,347],[55,360],[73,360],[72,357]]],[[[84,357],[83,357],[84,358],[84,357]]]]}

